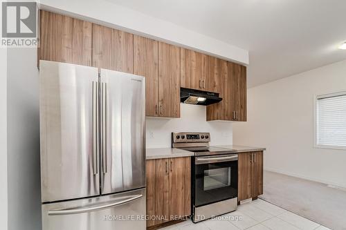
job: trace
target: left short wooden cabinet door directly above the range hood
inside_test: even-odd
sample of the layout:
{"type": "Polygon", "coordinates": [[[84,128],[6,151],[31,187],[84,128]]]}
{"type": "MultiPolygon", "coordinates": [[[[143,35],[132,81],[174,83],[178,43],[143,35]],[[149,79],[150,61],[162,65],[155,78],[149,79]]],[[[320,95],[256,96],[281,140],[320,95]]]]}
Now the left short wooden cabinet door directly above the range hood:
{"type": "Polygon", "coordinates": [[[191,50],[180,48],[180,86],[191,88],[191,50]]]}

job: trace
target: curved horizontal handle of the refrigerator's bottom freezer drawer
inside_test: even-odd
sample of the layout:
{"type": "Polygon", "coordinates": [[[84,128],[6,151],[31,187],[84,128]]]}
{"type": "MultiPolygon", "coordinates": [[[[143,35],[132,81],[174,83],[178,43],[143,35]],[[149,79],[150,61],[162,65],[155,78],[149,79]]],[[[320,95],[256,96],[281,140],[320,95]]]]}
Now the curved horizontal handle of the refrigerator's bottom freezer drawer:
{"type": "Polygon", "coordinates": [[[139,198],[143,198],[143,194],[139,195],[129,195],[125,197],[124,200],[111,202],[109,204],[103,204],[100,206],[91,206],[91,207],[80,207],[76,209],[58,209],[58,210],[50,210],[48,211],[48,215],[71,215],[71,214],[80,214],[80,213],[89,213],[92,211],[100,211],[103,209],[109,209],[111,207],[116,207],[122,204],[127,204],[134,200],[138,200],[139,198]]]}

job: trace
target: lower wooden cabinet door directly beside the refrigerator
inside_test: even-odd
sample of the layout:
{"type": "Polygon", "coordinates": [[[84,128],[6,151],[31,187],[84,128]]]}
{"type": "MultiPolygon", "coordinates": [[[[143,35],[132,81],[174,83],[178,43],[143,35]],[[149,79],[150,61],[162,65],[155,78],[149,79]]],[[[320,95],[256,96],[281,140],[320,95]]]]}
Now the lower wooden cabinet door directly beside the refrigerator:
{"type": "MultiPolygon", "coordinates": [[[[169,160],[147,160],[147,215],[170,218],[169,160]]],[[[147,227],[165,220],[147,220],[147,227]]]]}

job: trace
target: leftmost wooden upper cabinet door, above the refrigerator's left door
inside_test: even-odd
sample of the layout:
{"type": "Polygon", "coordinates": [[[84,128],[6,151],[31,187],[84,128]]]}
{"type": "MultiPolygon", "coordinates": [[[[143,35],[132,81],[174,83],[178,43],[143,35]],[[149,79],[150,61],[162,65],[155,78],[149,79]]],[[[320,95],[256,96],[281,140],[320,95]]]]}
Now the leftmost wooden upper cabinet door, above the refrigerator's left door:
{"type": "Polygon", "coordinates": [[[40,11],[39,59],[91,66],[92,24],[40,11]]]}

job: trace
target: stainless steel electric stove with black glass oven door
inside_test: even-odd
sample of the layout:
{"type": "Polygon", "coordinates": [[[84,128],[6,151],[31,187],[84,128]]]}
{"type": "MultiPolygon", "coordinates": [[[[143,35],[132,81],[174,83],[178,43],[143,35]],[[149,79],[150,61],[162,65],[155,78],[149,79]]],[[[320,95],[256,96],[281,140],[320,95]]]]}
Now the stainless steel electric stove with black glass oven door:
{"type": "Polygon", "coordinates": [[[210,146],[210,133],[172,133],[172,147],[194,153],[191,160],[192,221],[237,209],[238,155],[210,146]]]}

